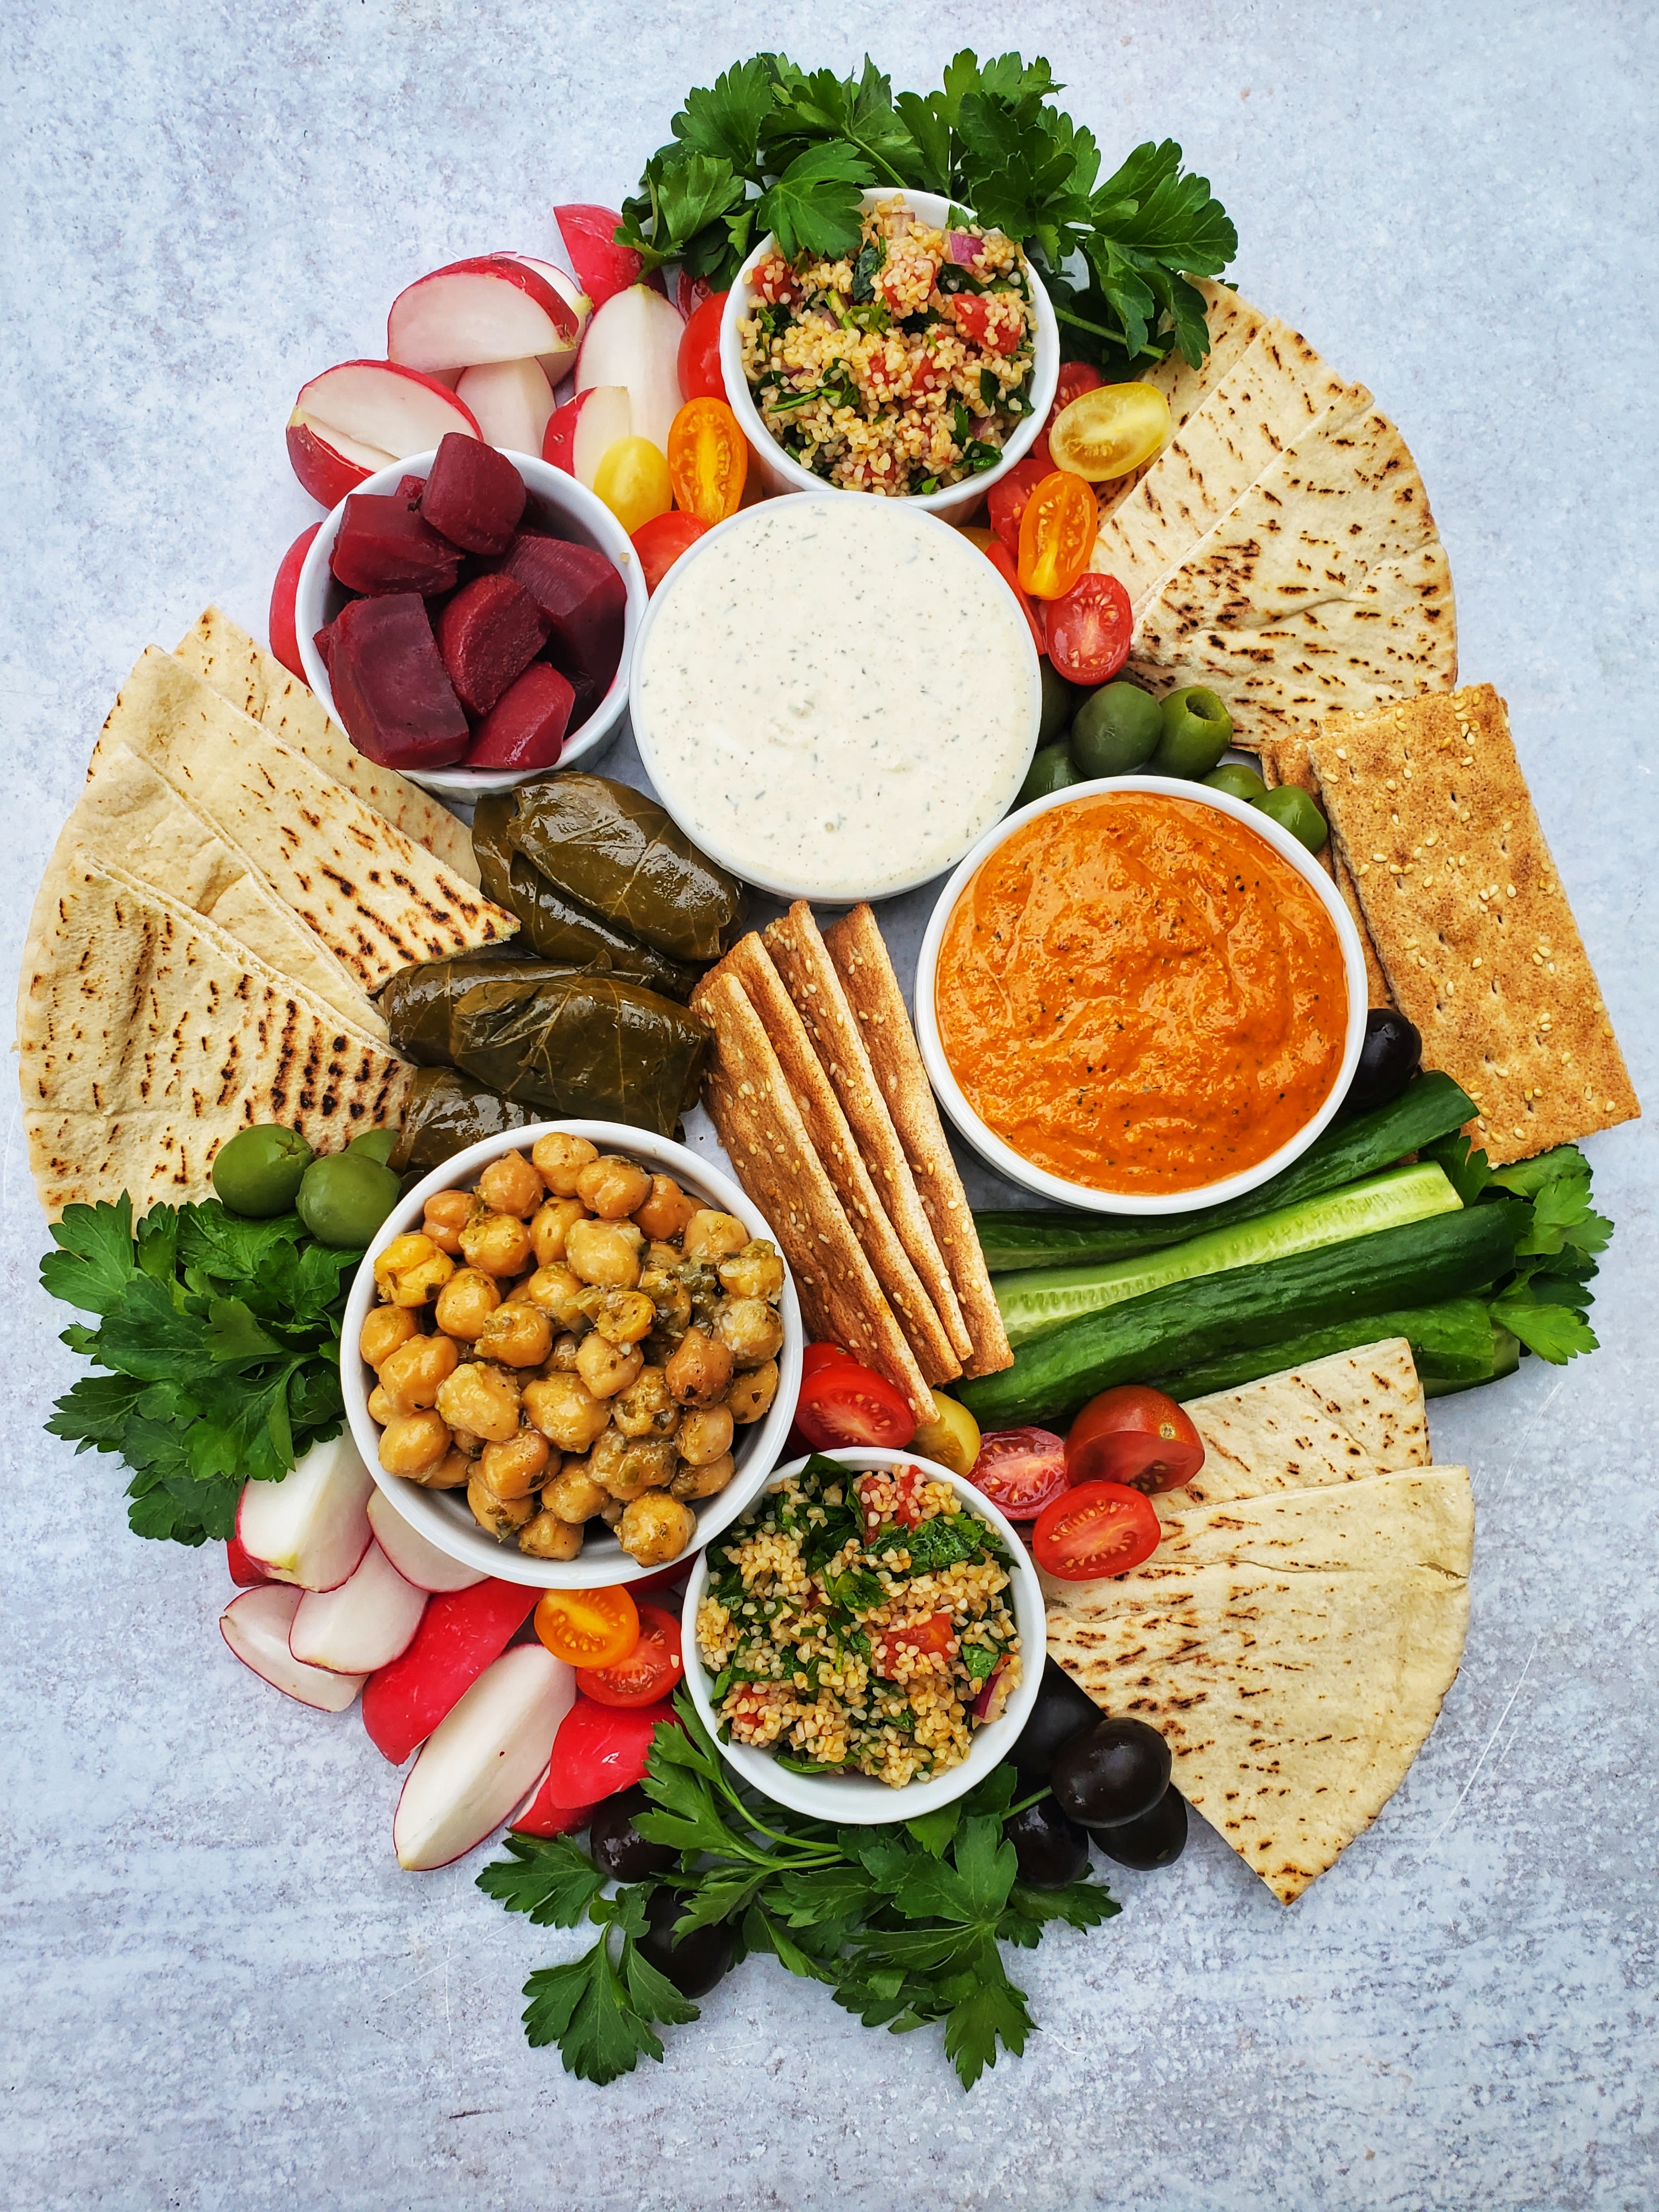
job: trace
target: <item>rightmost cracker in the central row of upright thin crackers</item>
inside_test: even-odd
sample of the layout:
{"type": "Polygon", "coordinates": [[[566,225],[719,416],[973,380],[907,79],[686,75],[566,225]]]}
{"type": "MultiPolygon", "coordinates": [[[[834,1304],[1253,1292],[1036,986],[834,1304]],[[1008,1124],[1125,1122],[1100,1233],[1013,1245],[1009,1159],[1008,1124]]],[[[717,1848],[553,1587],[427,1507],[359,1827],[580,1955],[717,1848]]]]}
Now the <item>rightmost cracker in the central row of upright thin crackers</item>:
{"type": "Polygon", "coordinates": [[[973,1232],[967,1190],[956,1172],[956,1159],[933,1104],[933,1086],[916,1048],[905,993],[898,989],[898,975],[876,927],[876,916],[867,905],[852,907],[825,929],[823,942],[858,1022],[876,1086],[887,1102],[945,1265],[951,1270],[962,1321],[973,1338],[973,1354],[964,1363],[964,1371],[969,1376],[1000,1374],[1004,1367],[1013,1367],[1009,1332],[1002,1327],[984,1252],[980,1252],[980,1239],[973,1232]]]}

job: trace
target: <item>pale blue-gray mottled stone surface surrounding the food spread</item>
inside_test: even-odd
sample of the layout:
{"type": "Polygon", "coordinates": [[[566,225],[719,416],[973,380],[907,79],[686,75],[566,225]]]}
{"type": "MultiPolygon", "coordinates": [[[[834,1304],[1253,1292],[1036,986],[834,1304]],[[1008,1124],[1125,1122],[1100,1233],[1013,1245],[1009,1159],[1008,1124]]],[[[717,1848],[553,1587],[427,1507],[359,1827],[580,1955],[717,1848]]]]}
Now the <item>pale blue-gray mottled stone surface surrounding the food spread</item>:
{"type": "MultiPolygon", "coordinates": [[[[615,199],[677,95],[787,44],[931,82],[1046,51],[1108,155],[1175,135],[1245,290],[1400,420],[1644,1095],[1655,1057],[1655,13],[692,0],[11,0],[0,591],[13,969],[146,639],[263,628],[312,520],[281,422],[392,292],[615,199]]],[[[914,947],[925,900],[889,916],[914,947]]],[[[1480,1498],[1464,1670],[1294,1911],[1197,1823],[1121,1918],[1022,1958],[1042,2033],[964,2099],[754,1962],[664,2066],[584,2088],[518,1986],[571,1940],[476,1860],[398,1874],[356,1714],[234,1666],[219,1553],[126,1533],[42,1438],[73,1363],[4,1106],[0,2201],[35,2208],[1015,2203],[1637,2208],[1655,2137],[1655,1139],[1590,1146],[1604,1349],[1436,1409],[1480,1498]]]]}

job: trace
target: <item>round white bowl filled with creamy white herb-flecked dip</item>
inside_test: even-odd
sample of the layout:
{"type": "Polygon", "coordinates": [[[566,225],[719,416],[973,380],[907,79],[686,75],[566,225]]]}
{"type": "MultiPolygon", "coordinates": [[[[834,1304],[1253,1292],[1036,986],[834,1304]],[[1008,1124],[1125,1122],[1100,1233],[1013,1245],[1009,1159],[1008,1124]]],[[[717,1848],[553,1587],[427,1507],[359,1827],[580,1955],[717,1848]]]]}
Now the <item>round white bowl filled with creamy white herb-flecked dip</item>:
{"type": "Polygon", "coordinates": [[[896,502],[765,500],[657,588],[633,721],[692,843],[792,898],[953,867],[1037,741],[1031,630],[973,540],[896,502]]]}

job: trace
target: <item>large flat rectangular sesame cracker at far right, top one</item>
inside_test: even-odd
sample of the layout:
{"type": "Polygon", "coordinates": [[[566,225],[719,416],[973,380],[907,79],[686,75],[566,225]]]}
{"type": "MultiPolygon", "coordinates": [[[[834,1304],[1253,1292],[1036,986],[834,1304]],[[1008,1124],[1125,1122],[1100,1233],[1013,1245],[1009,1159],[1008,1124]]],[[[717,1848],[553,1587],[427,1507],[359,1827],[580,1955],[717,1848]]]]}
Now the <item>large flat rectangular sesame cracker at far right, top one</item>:
{"type": "Polygon", "coordinates": [[[1433,692],[1314,739],[1325,812],[1425,1066],[1495,1166],[1641,1113],[1504,701],[1433,692]]]}

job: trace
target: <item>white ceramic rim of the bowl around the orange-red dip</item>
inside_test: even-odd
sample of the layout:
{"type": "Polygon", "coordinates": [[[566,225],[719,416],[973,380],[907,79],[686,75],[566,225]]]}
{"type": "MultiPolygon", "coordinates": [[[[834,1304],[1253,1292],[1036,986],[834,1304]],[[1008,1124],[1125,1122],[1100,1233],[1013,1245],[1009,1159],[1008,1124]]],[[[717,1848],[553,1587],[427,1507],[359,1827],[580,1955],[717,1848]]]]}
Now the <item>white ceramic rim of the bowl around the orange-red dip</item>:
{"type": "Polygon", "coordinates": [[[1097,783],[1071,783],[1066,790],[1051,792],[1046,799],[1033,799],[1031,805],[1009,814],[1009,818],[1000,821],[989,836],[980,838],[940,891],[927,922],[927,933],[922,936],[920,958],[916,962],[916,1042],[922,1048],[929,1082],[933,1084],[945,1113],[951,1121],[956,1121],[973,1150],[998,1170],[998,1175],[1006,1175],[1011,1183],[1020,1183],[1024,1190],[1035,1190],[1040,1197],[1053,1199],[1057,1206],[1082,1206],[1095,1214],[1190,1214],[1199,1206],[1219,1206],[1223,1199],[1237,1199],[1245,1190],[1254,1190],[1256,1183],[1265,1183],[1270,1175],[1279,1175],[1281,1168],[1287,1168],[1292,1159],[1298,1159],[1307,1150],[1314,1137],[1318,1137],[1336,1108],[1343,1104],[1343,1095],[1354,1079],[1354,1068],[1360,1062],[1360,1046],[1365,1044],[1365,1013],[1367,982],[1360,936],[1336,891],[1336,885],[1318,865],[1314,854],[1301,845],[1290,830],[1283,830],[1276,821],[1259,807],[1248,805],[1243,799],[1234,799],[1230,792],[1212,792],[1203,783],[1179,783],[1172,776],[1106,776],[1097,783]],[[1097,792],[1148,792],[1161,799],[1188,799],[1194,805],[1214,807],[1217,814],[1230,814],[1248,830],[1254,830],[1263,843],[1272,845],[1272,849],[1296,869],[1303,883],[1316,891],[1318,902],[1332,920],[1336,940],[1343,947],[1343,971],[1347,978],[1347,1033],[1343,1044],[1343,1064],[1336,1073],[1336,1082],[1325,1095],[1323,1106],[1296,1130],[1294,1137],[1281,1144],[1276,1152],[1270,1152],[1267,1159],[1259,1161],[1254,1168],[1243,1168],[1239,1175],[1221,1177],[1217,1183],[1201,1183],[1197,1190],[1170,1190],[1155,1197],[1141,1192],[1130,1194],[1117,1190],[1093,1190],[1088,1183],[1068,1183],[1060,1175],[1048,1175],[1046,1168],[1033,1168],[1029,1159],[1022,1159],[1013,1146],[1004,1144],[1002,1137],[989,1130],[973,1113],[969,1102],[962,1097],[962,1088],[956,1082],[951,1064],[945,1057],[945,1046],[940,1044],[938,1013],[933,1004],[938,951],[945,940],[945,927],[958,898],[967,889],[969,878],[980,863],[1024,823],[1035,821],[1037,814],[1048,814],[1053,807],[1062,807],[1075,799],[1088,799],[1097,792]]]}

